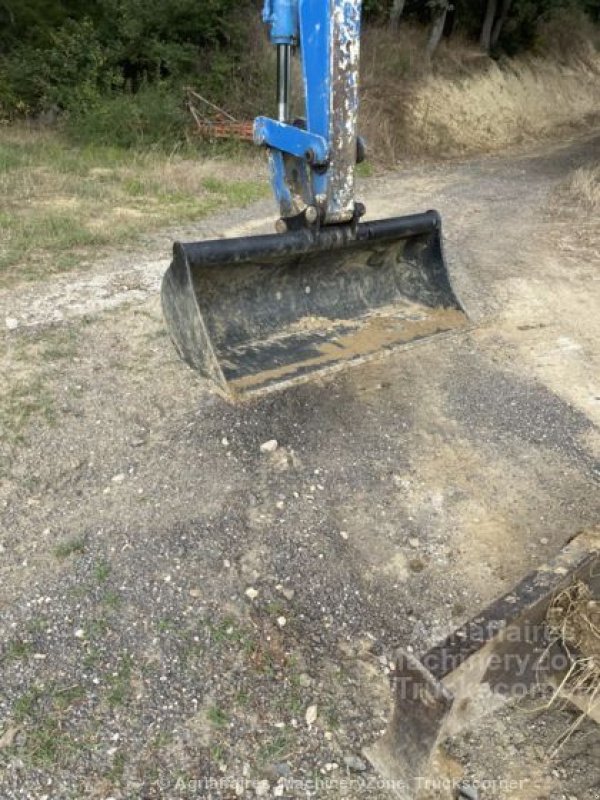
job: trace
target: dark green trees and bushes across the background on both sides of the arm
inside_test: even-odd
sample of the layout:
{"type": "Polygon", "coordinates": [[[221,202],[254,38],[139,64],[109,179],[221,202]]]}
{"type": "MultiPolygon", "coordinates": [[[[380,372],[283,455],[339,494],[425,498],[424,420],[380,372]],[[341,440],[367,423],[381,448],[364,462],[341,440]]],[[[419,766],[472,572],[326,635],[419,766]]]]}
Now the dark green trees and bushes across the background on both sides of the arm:
{"type": "MultiPolygon", "coordinates": [[[[557,9],[598,20],[600,0],[365,0],[373,23],[429,26],[430,57],[458,31],[492,55],[534,50],[557,9]]],[[[0,0],[0,116],[167,140],[182,130],[186,84],[251,114],[265,83],[259,20],[258,0],[0,0]]]]}

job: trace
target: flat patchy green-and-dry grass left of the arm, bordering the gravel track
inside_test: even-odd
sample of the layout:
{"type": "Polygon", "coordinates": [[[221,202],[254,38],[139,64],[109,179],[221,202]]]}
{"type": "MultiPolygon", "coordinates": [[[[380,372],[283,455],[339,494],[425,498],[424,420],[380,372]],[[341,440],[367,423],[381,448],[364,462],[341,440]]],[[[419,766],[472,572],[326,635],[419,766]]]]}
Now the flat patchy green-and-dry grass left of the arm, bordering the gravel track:
{"type": "Polygon", "coordinates": [[[0,287],[97,258],[142,233],[263,196],[260,159],[77,147],[0,129],[0,287]]]}

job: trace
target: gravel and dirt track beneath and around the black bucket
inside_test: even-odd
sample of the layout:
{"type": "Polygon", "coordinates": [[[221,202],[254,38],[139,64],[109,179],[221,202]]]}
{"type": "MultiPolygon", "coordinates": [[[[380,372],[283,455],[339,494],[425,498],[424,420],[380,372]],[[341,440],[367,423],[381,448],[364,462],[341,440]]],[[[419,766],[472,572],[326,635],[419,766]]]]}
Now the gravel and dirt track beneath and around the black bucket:
{"type": "MultiPolygon", "coordinates": [[[[586,137],[366,183],[371,216],[442,212],[474,329],[243,409],[165,335],[172,232],[0,296],[2,798],[387,796],[361,752],[394,647],[600,517],[600,223],[557,192],[599,157],[586,137]]],[[[597,728],[548,758],[571,720],[506,711],[439,777],[598,798],[597,728]]]]}

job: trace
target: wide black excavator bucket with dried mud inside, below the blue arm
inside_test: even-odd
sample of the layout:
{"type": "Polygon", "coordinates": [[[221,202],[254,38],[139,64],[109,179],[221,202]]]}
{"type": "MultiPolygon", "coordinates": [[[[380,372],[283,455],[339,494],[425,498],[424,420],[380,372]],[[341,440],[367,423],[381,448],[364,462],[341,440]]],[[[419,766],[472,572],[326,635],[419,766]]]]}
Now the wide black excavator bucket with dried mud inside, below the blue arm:
{"type": "Polygon", "coordinates": [[[357,226],[176,243],[162,285],[180,356],[229,399],[467,325],[435,211],[357,226]]]}

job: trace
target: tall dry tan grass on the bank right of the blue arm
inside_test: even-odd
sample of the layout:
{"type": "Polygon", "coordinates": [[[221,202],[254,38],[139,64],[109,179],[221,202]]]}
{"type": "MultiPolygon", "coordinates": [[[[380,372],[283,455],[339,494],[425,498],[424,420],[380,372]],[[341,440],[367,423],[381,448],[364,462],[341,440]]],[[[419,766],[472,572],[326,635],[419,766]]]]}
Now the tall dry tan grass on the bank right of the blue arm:
{"type": "MultiPolygon", "coordinates": [[[[423,34],[371,31],[363,62],[362,129],[379,161],[501,150],[598,114],[600,56],[492,61],[457,40],[428,63],[423,34]]],[[[583,45],[581,45],[583,48],[583,45]]]]}

